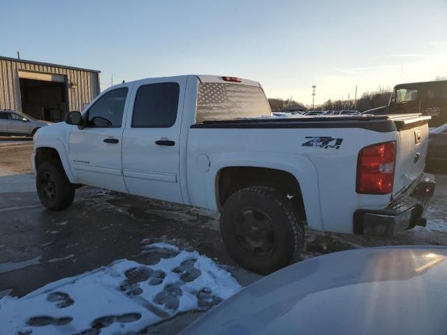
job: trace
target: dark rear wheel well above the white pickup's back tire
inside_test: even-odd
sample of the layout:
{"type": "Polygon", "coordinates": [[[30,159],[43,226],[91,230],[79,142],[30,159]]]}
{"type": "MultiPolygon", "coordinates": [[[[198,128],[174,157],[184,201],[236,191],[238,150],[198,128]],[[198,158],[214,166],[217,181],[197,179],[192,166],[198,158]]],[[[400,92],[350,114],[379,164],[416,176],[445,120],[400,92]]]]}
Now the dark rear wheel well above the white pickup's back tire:
{"type": "Polygon", "coordinates": [[[237,166],[220,170],[216,180],[219,211],[230,195],[254,185],[272,186],[284,192],[284,196],[293,197],[293,206],[300,210],[305,219],[305,206],[298,180],[289,172],[270,168],[237,166]]]}

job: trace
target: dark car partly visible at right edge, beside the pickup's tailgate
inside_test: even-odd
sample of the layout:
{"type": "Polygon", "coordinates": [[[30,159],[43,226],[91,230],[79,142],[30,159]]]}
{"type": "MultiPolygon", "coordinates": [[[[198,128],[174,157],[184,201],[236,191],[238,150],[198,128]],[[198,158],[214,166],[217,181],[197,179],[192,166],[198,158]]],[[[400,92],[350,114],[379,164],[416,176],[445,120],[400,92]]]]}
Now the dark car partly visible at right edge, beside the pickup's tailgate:
{"type": "Polygon", "coordinates": [[[426,164],[430,170],[447,170],[447,124],[430,129],[426,164]]]}

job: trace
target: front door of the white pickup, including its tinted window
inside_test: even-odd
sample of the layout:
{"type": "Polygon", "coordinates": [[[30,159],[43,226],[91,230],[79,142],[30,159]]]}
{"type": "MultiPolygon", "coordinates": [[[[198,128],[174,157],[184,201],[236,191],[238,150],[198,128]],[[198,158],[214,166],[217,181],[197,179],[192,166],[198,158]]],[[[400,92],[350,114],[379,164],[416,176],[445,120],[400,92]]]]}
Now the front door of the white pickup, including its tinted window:
{"type": "Polygon", "coordinates": [[[79,184],[126,192],[122,176],[124,115],[131,87],[110,89],[83,113],[85,128],[72,126],[69,157],[79,184]]]}

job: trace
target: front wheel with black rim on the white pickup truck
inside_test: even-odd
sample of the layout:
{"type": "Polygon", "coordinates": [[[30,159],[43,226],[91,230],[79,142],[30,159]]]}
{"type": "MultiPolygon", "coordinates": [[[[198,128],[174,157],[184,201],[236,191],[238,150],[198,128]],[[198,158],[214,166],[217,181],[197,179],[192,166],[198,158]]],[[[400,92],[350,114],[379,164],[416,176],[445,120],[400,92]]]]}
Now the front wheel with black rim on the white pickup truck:
{"type": "Polygon", "coordinates": [[[75,198],[75,188],[59,161],[46,161],[38,167],[36,188],[43,206],[51,211],[66,209],[75,198]]]}

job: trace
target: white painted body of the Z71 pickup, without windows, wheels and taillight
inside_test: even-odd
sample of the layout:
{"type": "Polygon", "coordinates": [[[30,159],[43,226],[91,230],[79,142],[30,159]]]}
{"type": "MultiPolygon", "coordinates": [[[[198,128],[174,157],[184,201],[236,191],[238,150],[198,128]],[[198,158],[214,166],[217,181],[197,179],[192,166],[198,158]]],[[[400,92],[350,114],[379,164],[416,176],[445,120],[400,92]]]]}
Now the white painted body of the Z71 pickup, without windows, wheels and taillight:
{"type": "MultiPolygon", "coordinates": [[[[220,207],[217,179],[223,168],[245,166],[281,170],[292,174],[300,185],[309,227],[340,233],[353,232],[353,213],[357,209],[383,209],[393,196],[392,193],[356,193],[360,149],[397,141],[394,192],[397,188],[403,191],[423,172],[427,124],[419,127],[422,140],[416,146],[411,127],[403,133],[374,131],[362,126],[344,128],[340,126],[342,120],[349,120],[344,117],[306,117],[316,121],[311,126],[302,127],[283,125],[278,128],[273,124],[270,128],[244,125],[239,128],[194,128],[200,82],[226,83],[218,76],[189,75],[148,78],[112,87],[98,96],[83,115],[108,91],[127,87],[129,93],[121,127],[81,129],[65,123],[46,127],[34,139],[35,153],[43,147],[57,149],[73,184],[98,186],[213,211],[220,207]],[[173,126],[133,128],[133,107],[138,89],[166,82],[179,84],[177,118],[173,126]],[[325,120],[338,125],[320,126],[325,120]],[[103,139],[109,137],[119,142],[104,143],[103,139]],[[318,137],[339,140],[339,145],[313,145],[312,140],[318,137]],[[155,144],[158,140],[170,140],[175,144],[160,146],[155,144]],[[307,145],[309,142],[312,145],[307,145]],[[413,163],[416,151],[420,153],[420,159],[413,163]]],[[[261,87],[251,80],[231,84],[261,87]]],[[[368,116],[363,119],[367,121],[368,116]]],[[[33,163],[34,157],[35,154],[33,163]]]]}

